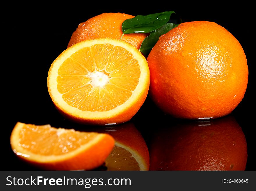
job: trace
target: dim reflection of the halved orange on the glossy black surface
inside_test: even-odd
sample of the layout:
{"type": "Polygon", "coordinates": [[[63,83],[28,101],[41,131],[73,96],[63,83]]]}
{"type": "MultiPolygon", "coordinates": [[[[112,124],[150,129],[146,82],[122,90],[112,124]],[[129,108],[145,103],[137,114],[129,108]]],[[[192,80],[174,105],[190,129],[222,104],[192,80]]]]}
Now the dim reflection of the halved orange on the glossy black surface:
{"type": "Polygon", "coordinates": [[[107,170],[148,170],[149,152],[141,133],[132,123],[108,127],[115,139],[114,149],[105,161],[107,170]]]}

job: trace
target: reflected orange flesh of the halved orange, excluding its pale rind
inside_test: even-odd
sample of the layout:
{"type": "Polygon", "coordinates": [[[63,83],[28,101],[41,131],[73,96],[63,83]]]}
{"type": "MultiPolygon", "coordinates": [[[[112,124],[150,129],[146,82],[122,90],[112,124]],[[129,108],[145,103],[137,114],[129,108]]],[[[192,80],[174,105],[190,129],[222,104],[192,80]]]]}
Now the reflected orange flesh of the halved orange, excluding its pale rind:
{"type": "Polygon", "coordinates": [[[111,154],[106,159],[108,170],[140,170],[139,164],[126,149],[114,146],[111,154]]]}

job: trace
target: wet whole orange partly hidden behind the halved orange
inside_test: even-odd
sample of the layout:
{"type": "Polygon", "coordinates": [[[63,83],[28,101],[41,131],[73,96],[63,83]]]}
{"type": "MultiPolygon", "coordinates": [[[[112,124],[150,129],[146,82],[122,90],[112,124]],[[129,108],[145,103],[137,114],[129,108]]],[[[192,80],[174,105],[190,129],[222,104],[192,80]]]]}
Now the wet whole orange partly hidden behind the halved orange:
{"type": "MultiPolygon", "coordinates": [[[[67,47],[76,44],[82,40],[95,38],[114,38],[120,39],[122,32],[122,23],[126,19],[131,19],[134,16],[124,13],[102,13],[86,22],[80,23],[77,30],[71,36],[67,47]]],[[[147,34],[125,34],[122,40],[132,44],[139,49],[141,43],[146,38],[147,34]]]]}

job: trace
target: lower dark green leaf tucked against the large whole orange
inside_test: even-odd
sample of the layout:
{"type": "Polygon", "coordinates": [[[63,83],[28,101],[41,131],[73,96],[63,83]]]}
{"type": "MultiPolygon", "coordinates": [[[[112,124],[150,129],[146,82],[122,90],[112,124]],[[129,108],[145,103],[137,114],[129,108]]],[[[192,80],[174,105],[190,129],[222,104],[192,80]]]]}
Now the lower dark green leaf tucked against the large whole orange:
{"type": "Polygon", "coordinates": [[[147,36],[143,42],[141,43],[141,47],[139,51],[141,51],[145,57],[148,56],[154,45],[157,43],[159,40],[159,37],[168,31],[172,30],[179,24],[174,24],[174,23],[166,23],[162,27],[158,28],[155,31],[152,31],[149,36],[147,36]]]}

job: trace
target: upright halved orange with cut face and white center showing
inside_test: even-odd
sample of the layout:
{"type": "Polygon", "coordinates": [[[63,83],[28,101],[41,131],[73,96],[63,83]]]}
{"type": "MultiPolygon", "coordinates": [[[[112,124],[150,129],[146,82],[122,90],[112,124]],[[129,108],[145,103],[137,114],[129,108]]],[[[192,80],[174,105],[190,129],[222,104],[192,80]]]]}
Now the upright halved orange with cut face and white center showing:
{"type": "Polygon", "coordinates": [[[131,119],[147,97],[150,73],[131,44],[111,38],[84,40],[51,64],[48,91],[56,108],[83,124],[131,119]]]}

